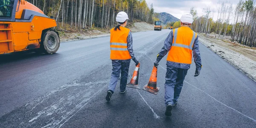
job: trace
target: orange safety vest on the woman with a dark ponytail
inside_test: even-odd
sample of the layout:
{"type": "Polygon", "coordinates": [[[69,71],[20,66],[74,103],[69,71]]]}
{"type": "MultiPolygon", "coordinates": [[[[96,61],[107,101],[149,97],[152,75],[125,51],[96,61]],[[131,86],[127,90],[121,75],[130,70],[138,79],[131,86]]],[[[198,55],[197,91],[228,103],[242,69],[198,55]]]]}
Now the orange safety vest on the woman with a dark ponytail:
{"type": "Polygon", "coordinates": [[[110,59],[111,60],[128,60],[131,55],[127,49],[127,38],[130,29],[120,26],[116,31],[110,30],[110,59]]]}

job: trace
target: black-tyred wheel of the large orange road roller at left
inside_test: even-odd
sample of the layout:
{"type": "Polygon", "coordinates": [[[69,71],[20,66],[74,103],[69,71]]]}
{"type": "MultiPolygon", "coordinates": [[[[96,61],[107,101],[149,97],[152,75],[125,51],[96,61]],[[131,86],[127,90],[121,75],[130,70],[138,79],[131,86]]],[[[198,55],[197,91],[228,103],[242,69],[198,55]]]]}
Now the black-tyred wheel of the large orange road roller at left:
{"type": "Polygon", "coordinates": [[[60,47],[60,38],[55,31],[47,31],[42,37],[41,49],[44,53],[53,54],[60,47]]]}

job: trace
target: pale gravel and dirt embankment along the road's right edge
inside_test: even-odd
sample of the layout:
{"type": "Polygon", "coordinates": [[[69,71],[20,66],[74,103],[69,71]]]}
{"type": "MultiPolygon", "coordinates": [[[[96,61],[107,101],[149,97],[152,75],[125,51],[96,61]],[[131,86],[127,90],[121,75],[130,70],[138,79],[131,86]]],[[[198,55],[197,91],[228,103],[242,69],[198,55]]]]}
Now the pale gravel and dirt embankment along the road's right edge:
{"type": "Polygon", "coordinates": [[[210,35],[199,34],[199,41],[242,73],[256,81],[256,49],[210,35]]]}

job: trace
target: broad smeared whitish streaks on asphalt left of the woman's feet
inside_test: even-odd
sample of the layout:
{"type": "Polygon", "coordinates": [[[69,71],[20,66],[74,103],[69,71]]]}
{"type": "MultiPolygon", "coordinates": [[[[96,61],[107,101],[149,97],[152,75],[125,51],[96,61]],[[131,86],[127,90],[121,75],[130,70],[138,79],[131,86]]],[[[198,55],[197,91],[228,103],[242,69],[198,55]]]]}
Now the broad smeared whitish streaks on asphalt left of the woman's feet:
{"type": "MultiPolygon", "coordinates": [[[[105,87],[108,86],[109,80],[105,81],[96,81],[96,82],[88,82],[88,83],[78,83],[78,81],[73,81],[70,84],[66,84],[62,87],[60,87],[58,90],[54,90],[51,93],[48,93],[46,97],[53,95],[56,92],[60,92],[64,89],[67,89],[69,87],[82,87],[88,84],[105,84],[103,87],[99,88],[96,93],[93,93],[90,91],[91,87],[88,87],[86,90],[78,90],[77,93],[68,93],[65,97],[59,99],[58,101],[54,102],[53,104],[49,105],[48,107],[42,109],[37,113],[36,116],[34,116],[32,119],[28,121],[27,125],[32,125],[35,122],[38,122],[41,120],[41,118],[44,118],[47,116],[47,118],[50,118],[53,113],[61,115],[61,116],[53,116],[49,121],[47,121],[47,125],[44,125],[42,128],[48,128],[48,127],[61,127],[64,125],[65,122],[67,122],[70,118],[72,118],[77,112],[79,112],[82,108],[84,108],[85,105],[87,105],[93,97],[95,97],[98,93],[102,92],[102,90],[105,89],[105,87]],[[88,91],[89,90],[89,91],[88,91]],[[82,99],[82,100],[81,100],[82,99]],[[74,106],[75,105],[75,106],[74,106]],[[64,107],[66,106],[66,107],[64,107]],[[73,107],[72,110],[68,110],[67,106],[73,107]],[[32,124],[31,124],[32,123],[32,124]],[[62,123],[62,124],[61,124],[62,123]]],[[[78,88],[73,88],[74,90],[77,90],[78,88]]],[[[35,105],[31,110],[35,109],[36,106],[39,106],[43,101],[39,102],[35,105]]],[[[26,113],[28,113],[27,111],[26,113]]],[[[22,125],[22,123],[20,124],[22,125]]]]}

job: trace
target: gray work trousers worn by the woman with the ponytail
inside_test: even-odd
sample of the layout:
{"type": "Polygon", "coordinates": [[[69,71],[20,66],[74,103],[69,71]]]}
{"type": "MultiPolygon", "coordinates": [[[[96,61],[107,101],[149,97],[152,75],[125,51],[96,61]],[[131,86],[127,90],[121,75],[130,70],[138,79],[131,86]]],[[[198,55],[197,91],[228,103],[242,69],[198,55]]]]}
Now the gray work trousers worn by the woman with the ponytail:
{"type": "Polygon", "coordinates": [[[112,74],[108,90],[114,93],[121,72],[120,91],[125,91],[131,59],[112,60],[112,74]]]}

